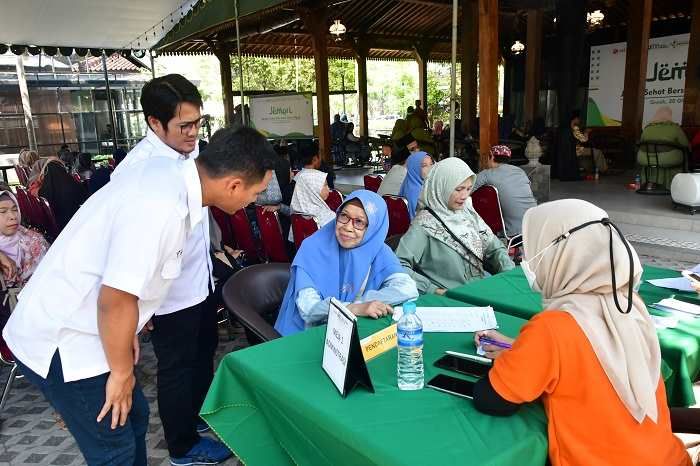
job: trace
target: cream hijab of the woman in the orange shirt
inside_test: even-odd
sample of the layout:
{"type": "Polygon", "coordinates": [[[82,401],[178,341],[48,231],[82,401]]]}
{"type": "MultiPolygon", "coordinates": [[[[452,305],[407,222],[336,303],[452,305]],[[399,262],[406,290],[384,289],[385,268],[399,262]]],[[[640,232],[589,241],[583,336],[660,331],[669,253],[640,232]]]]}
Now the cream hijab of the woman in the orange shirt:
{"type": "MultiPolygon", "coordinates": [[[[607,217],[604,210],[579,199],[562,199],[529,209],[523,218],[526,259],[570,229],[607,217]]],[[[629,314],[622,314],[615,306],[613,293],[617,292],[620,305],[626,308],[630,270],[624,243],[613,231],[617,286],[613,290],[609,228],[594,224],[578,230],[535,258],[530,267],[536,267],[544,308],[568,312],[576,320],[634,419],[641,423],[649,417],[656,422],[656,389],[661,376],[659,340],[637,293],[632,295],[629,314]]],[[[642,266],[634,249],[632,258],[637,283],[642,266]]]]}

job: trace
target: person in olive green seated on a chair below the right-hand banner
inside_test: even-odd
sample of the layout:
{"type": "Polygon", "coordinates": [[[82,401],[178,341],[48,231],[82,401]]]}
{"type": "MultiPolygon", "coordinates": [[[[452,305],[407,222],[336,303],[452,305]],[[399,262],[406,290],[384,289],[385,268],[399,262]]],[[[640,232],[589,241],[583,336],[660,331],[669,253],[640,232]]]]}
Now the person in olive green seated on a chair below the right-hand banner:
{"type": "MultiPolygon", "coordinates": [[[[645,147],[642,146],[637,154],[637,163],[643,167],[641,171],[642,184],[647,181],[656,181],[658,175],[659,184],[670,189],[673,177],[683,170],[684,149],[688,149],[690,146],[688,136],[686,136],[683,128],[673,121],[673,110],[671,110],[671,107],[660,107],[656,111],[651,122],[644,127],[640,141],[667,142],[679,146],[678,149],[668,147],[667,150],[659,152],[659,168],[649,169],[649,180],[646,179],[646,167],[649,165],[649,158],[647,158],[646,151],[643,150],[645,147]],[[657,170],[659,171],[658,174],[657,170]]],[[[650,155],[652,163],[655,163],[656,154],[652,152],[650,155]]]]}

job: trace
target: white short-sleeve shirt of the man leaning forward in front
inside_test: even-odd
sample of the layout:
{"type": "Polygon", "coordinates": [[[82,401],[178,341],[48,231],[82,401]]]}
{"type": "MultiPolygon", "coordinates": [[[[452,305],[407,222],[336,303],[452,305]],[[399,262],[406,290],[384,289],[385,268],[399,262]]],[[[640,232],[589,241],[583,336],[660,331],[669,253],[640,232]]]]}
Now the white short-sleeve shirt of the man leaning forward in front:
{"type": "Polygon", "coordinates": [[[102,285],[138,297],[138,330],[180,276],[190,225],[202,216],[194,160],[158,157],[112,180],[78,210],[19,296],[3,336],[46,377],[56,350],[66,382],[109,372],[97,326],[102,285]]]}

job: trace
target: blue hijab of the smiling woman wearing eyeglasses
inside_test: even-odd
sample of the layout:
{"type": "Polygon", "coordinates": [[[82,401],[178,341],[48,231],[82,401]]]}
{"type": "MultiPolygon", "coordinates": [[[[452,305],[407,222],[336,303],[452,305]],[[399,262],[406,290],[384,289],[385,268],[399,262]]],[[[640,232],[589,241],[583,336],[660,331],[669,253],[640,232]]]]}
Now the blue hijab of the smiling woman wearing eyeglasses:
{"type": "Polygon", "coordinates": [[[338,212],[353,199],[362,202],[369,222],[362,242],[353,249],[340,246],[335,236],[336,221],[333,220],[301,243],[292,262],[289,285],[275,323],[275,329],[281,335],[291,335],[306,328],[296,305],[299,291],[313,288],[321,299],[333,297],[353,302],[368,271],[365,291],[378,290],[387,277],[403,272],[399,260],[384,244],[389,231],[384,200],[371,191],[355,191],[346,198],[338,212]]]}

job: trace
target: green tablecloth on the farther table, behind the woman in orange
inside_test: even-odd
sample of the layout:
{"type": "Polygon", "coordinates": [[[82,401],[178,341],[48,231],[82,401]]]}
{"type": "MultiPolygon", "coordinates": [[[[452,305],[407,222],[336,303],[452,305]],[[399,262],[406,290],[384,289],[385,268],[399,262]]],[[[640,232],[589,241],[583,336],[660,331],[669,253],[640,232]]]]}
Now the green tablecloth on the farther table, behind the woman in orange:
{"type": "MultiPolygon", "coordinates": [[[[679,276],[680,273],[674,270],[646,266],[639,294],[647,305],[673,294],[696,297],[695,293],[674,292],[646,282],[679,276]]],[[[523,319],[529,319],[542,310],[540,294],[530,289],[520,267],[454,288],[447,292],[447,296],[478,306],[490,305],[498,312],[523,319]]],[[[649,311],[655,315],[668,315],[653,308],[649,311]]],[[[681,321],[676,328],[661,329],[657,333],[661,356],[672,371],[664,374],[669,405],[684,407],[695,404],[693,381],[700,374],[700,319],[681,321]]]]}

